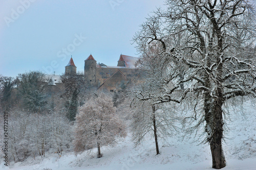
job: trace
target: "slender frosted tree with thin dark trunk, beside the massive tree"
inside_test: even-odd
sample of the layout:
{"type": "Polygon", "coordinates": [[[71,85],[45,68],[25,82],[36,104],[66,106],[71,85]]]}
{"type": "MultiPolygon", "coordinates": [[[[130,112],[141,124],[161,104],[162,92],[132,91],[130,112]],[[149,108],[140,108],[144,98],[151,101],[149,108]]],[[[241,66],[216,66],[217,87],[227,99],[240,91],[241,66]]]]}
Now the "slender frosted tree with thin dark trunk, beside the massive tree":
{"type": "MultiPolygon", "coordinates": [[[[129,90],[133,108],[133,139],[138,145],[146,134],[154,134],[156,153],[159,152],[158,137],[166,139],[177,130],[175,126],[174,110],[169,109],[170,104],[157,104],[155,96],[173,87],[172,80],[179,80],[177,65],[165,64],[170,61],[163,60],[158,55],[162,47],[154,44],[144,48],[140,59],[143,82],[129,90]],[[168,68],[167,68],[168,67],[168,68]],[[168,108],[168,109],[166,109],[168,108]]],[[[174,93],[174,90],[173,90],[174,93]]]]}

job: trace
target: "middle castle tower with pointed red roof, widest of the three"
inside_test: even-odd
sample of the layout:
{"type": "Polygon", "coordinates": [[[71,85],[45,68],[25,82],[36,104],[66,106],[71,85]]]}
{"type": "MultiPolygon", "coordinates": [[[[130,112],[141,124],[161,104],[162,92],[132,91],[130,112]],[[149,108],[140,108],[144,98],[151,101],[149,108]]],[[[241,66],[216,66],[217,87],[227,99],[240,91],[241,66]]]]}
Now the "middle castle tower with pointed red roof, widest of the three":
{"type": "Polygon", "coordinates": [[[84,78],[91,86],[96,86],[96,60],[90,55],[84,60],[84,78]]]}

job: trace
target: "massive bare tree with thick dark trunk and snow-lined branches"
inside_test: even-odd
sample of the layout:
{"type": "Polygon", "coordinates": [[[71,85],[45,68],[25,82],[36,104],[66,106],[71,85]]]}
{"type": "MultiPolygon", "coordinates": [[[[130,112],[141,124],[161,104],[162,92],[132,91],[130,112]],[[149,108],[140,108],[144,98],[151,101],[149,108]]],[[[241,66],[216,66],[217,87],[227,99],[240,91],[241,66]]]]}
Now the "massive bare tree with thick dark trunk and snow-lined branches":
{"type": "Polygon", "coordinates": [[[194,114],[188,117],[197,121],[196,128],[205,126],[212,167],[225,167],[224,105],[256,94],[255,9],[247,0],[168,0],[166,7],[142,24],[134,40],[142,54],[158,44],[162,47],[158,55],[167,65],[163,68],[179,65],[179,69],[169,75],[172,87],[141,98],[156,104],[190,99],[194,114]],[[179,87],[184,90],[177,97],[173,92],[179,87]]]}

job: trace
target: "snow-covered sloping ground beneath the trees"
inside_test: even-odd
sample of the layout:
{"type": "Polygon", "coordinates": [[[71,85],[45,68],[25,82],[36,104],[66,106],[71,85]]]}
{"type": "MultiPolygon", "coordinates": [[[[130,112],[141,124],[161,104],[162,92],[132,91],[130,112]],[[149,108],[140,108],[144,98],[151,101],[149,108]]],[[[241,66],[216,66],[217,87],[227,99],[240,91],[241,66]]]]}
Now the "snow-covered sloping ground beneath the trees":
{"type": "MultiPolygon", "coordinates": [[[[226,120],[229,132],[225,134],[223,149],[227,169],[256,169],[256,109],[246,103],[246,117],[231,114],[226,120]]],[[[102,158],[96,158],[96,150],[75,156],[74,153],[47,153],[46,157],[28,158],[24,162],[11,163],[8,167],[1,160],[0,169],[23,170],[75,170],[75,169],[212,169],[208,144],[178,141],[175,137],[167,143],[159,142],[160,155],[156,155],[154,139],[134,148],[131,134],[114,148],[102,147],[102,158]]]]}

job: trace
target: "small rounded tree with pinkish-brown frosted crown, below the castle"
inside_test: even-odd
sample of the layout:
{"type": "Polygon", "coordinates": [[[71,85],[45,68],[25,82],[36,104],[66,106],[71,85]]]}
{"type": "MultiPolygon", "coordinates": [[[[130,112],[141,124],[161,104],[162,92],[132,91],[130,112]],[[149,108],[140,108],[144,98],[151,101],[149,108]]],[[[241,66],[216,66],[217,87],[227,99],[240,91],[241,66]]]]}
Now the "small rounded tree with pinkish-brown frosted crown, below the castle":
{"type": "Polygon", "coordinates": [[[113,146],[117,137],[125,137],[125,126],[116,114],[111,97],[99,93],[79,108],[75,123],[75,152],[97,147],[97,157],[102,157],[100,147],[113,146]]]}

